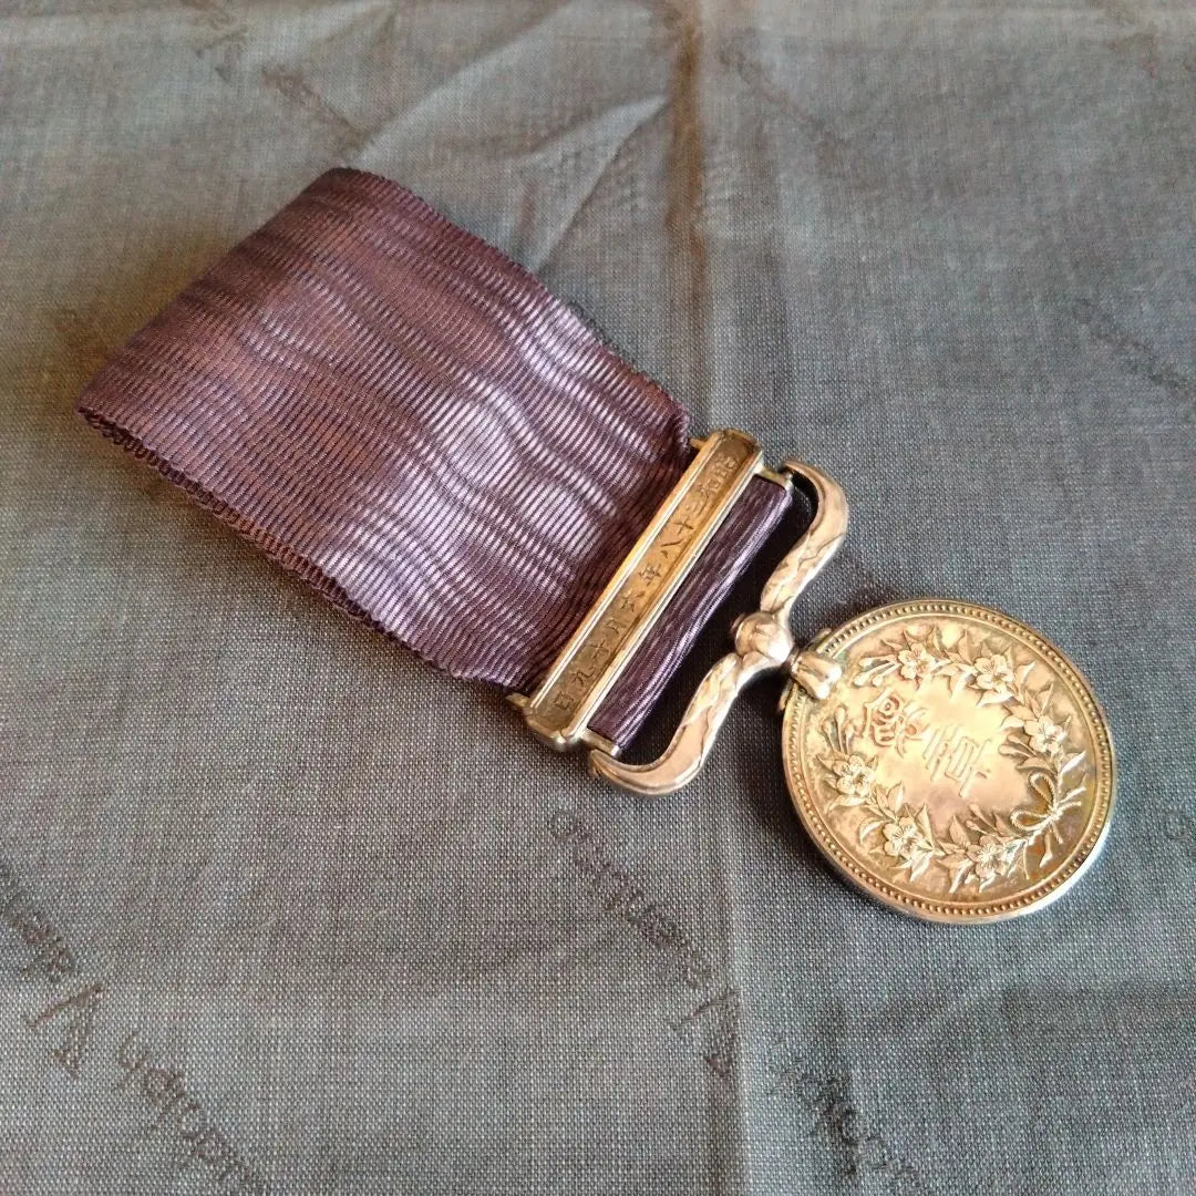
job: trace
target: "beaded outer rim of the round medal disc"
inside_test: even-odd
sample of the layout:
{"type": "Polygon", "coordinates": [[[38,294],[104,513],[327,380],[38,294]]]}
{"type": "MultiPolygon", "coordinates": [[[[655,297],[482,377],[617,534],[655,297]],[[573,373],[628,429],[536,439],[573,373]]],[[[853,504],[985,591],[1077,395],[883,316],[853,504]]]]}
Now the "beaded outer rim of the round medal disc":
{"type": "Polygon", "coordinates": [[[1023,914],[1043,909],[1058,897],[1062,897],[1087,872],[1100,854],[1109,836],[1109,826],[1112,822],[1112,812],[1117,797],[1117,761],[1112,734],[1109,720],[1096,694],[1092,691],[1092,687],[1072,660],[1039,631],[993,606],[950,598],[920,598],[890,603],[864,611],[835,628],[835,630],[819,636],[814,647],[819,654],[834,658],[862,633],[873,630],[883,623],[904,617],[928,618],[934,616],[972,618],[997,630],[1003,630],[1007,634],[1014,634],[1014,636],[1017,633],[1029,635],[1036,646],[1041,645],[1045,649],[1043,655],[1051,667],[1057,670],[1058,675],[1070,684],[1076,704],[1088,719],[1093,730],[1094,755],[1097,757],[1093,761],[1096,773],[1093,810],[1088,817],[1084,838],[1072,853],[1072,858],[1064,866],[1062,875],[1060,877],[1056,873],[1056,879],[1039,883],[1027,892],[1012,898],[990,901],[984,904],[964,904],[911,896],[896,885],[890,884],[879,872],[865,868],[838,846],[836,836],[818,813],[814,798],[806,786],[806,768],[803,758],[805,755],[803,751],[805,738],[804,736],[799,738],[798,731],[801,727],[805,713],[822,703],[814,701],[797,689],[797,687],[792,688],[785,702],[785,715],[781,724],[781,756],[785,782],[789,792],[789,799],[806,835],[835,871],[868,897],[880,902],[889,909],[922,921],[956,926],[1006,921],[1011,917],[1018,917],[1023,914]],[[1044,889],[1044,884],[1049,887],[1044,889]]]}

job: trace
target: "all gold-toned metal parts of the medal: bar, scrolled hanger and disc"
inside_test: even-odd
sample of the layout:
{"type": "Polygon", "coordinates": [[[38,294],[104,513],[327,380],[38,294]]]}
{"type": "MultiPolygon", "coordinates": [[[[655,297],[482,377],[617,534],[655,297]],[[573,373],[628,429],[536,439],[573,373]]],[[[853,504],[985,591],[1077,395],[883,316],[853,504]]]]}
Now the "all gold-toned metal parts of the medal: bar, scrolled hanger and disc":
{"type": "Polygon", "coordinates": [[[813,518],[765,582],[759,609],[736,622],[733,651],[698,684],[667,748],[633,764],[593,742],[585,714],[626,665],[630,648],[620,636],[649,623],[655,609],[621,596],[666,600],[665,582],[645,587],[641,575],[665,576],[657,565],[665,548],[679,570],[759,471],[743,433],[716,433],[703,445],[536,694],[518,698],[529,724],[555,746],[590,743],[596,775],[659,795],[697,775],[746,685],[787,675],[789,794],[844,877],[939,922],[990,922],[1058,897],[1096,858],[1112,810],[1112,743],[1092,691],[1036,631],[970,603],[884,606],[798,645],[793,605],[848,526],[842,488],[813,465],[786,460],[770,475],[799,484],[813,518]],[[698,484],[712,470],[715,482],[698,484]],[[688,538],[671,530],[678,509],[688,538]],[[687,547],[672,553],[673,544],[687,547]]]}

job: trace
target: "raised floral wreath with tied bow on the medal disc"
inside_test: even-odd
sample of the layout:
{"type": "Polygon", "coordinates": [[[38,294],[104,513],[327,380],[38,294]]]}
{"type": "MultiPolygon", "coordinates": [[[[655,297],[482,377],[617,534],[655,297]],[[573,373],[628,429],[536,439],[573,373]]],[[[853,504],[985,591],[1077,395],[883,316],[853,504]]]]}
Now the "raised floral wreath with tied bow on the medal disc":
{"type": "MultiPolygon", "coordinates": [[[[887,679],[901,678],[920,690],[942,681],[952,695],[975,694],[977,707],[1003,706],[1001,731],[1006,739],[1000,753],[1014,759],[1037,801],[1008,813],[970,804],[968,816],[962,820],[952,817],[940,836],[925,805],[913,808],[902,785],[886,787],[879,781],[875,756],[860,746],[866,724],[852,721],[847,707],[840,706],[819,728],[829,745],[828,753],[817,757],[831,792],[828,812],[859,807],[865,816],[860,843],[896,871],[908,872],[910,880],[932,865],[950,873],[951,892],[960,885],[983,890],[1019,867],[1029,878],[1031,848],[1039,849],[1039,867],[1051,861],[1055,847],[1063,842],[1060,822],[1080,805],[1085,789],[1084,779],[1073,783],[1069,776],[1085,752],[1072,750],[1070,715],[1061,716],[1051,708],[1054,685],[1031,689],[1033,661],[1017,665],[1007,646],[991,645],[983,636],[972,640],[964,635],[948,646],[932,624],[920,633],[904,628],[899,639],[881,642],[890,651],[864,659],[853,683],[879,689],[887,679]]],[[[925,727],[904,726],[897,750],[903,751],[905,742],[925,733],[925,727]]]]}

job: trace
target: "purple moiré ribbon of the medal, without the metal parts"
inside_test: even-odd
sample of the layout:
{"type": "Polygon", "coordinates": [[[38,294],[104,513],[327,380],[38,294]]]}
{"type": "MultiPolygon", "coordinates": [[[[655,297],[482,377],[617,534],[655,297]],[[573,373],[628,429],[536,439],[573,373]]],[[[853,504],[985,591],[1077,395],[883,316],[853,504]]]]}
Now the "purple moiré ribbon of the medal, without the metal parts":
{"type": "MultiPolygon", "coordinates": [[[[687,413],[397,183],[331,170],[79,401],[336,605],[531,692],[692,457],[687,413]]],[[[788,507],[727,513],[591,725],[629,742],[788,507]],[[627,696],[621,697],[622,694],[627,696]]]]}

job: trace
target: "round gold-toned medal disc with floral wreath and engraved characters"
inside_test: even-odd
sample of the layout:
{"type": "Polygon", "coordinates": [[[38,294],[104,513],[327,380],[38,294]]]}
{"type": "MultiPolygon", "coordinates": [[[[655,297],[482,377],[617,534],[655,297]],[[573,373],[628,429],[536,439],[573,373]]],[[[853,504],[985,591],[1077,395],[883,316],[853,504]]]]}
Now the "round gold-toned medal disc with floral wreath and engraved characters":
{"type": "Polygon", "coordinates": [[[987,922],[1046,904],[1097,855],[1113,801],[1109,727],[1087,683],[1029,627],[936,599],[868,611],[814,651],[823,700],[792,688],[793,804],[869,896],[987,922]]]}

